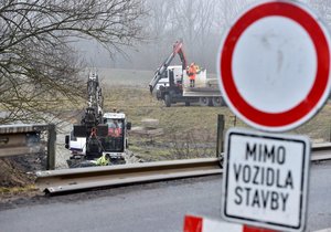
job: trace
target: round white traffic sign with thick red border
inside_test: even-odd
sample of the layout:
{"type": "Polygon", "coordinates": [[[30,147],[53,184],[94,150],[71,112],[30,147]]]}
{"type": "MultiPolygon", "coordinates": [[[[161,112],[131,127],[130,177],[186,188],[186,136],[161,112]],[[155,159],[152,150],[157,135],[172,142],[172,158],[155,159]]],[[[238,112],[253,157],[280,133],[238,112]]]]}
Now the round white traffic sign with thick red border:
{"type": "Polygon", "coordinates": [[[300,3],[250,7],[221,44],[217,70],[227,105],[258,129],[300,126],[329,96],[329,43],[320,19],[300,3]]]}

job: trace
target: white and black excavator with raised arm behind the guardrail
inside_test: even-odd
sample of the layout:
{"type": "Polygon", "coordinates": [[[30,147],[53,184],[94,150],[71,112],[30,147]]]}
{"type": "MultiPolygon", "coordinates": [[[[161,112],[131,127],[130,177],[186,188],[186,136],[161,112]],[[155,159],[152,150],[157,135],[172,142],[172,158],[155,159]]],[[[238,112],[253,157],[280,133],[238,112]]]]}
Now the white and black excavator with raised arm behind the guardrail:
{"type": "Polygon", "coordinates": [[[87,81],[87,107],[81,124],[74,125],[65,137],[65,147],[71,150],[70,167],[94,166],[103,155],[111,164],[124,164],[128,148],[127,130],[131,124],[119,112],[104,113],[104,98],[98,75],[92,73],[87,81]]]}

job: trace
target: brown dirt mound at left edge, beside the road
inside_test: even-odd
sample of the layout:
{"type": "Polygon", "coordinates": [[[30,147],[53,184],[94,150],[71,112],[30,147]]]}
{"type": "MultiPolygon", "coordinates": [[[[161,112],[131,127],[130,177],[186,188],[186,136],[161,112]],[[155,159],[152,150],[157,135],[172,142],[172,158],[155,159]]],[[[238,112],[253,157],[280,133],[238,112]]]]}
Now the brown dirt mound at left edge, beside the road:
{"type": "Polygon", "coordinates": [[[24,187],[33,183],[31,175],[14,160],[0,159],[0,187],[24,187]]]}

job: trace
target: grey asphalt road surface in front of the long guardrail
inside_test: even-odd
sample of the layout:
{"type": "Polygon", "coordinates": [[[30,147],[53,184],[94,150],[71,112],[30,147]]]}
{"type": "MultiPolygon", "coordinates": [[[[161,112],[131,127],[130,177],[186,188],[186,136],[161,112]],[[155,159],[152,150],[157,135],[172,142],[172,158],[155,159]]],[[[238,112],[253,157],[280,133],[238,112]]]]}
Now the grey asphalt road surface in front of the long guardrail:
{"type": "MultiPolygon", "coordinates": [[[[221,176],[35,197],[0,204],[0,231],[181,232],[186,213],[221,217],[221,176]]],[[[331,228],[331,162],[312,165],[307,231],[331,228]]]]}

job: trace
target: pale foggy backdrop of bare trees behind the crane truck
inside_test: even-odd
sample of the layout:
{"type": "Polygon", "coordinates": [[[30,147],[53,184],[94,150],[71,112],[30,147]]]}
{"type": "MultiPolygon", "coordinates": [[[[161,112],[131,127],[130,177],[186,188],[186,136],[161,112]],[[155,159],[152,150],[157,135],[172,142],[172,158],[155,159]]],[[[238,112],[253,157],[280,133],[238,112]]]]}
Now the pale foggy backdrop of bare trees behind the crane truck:
{"type": "MultiPolygon", "coordinates": [[[[110,55],[93,41],[76,44],[90,66],[156,71],[182,39],[188,62],[215,73],[216,55],[223,33],[232,21],[256,0],[147,0],[143,40],[110,55]]],[[[317,10],[330,27],[331,1],[300,0],[317,10]]],[[[179,64],[175,57],[173,63],[179,64]]]]}

